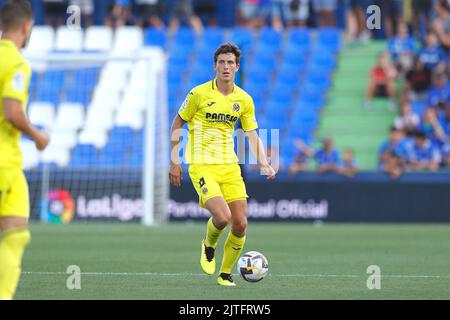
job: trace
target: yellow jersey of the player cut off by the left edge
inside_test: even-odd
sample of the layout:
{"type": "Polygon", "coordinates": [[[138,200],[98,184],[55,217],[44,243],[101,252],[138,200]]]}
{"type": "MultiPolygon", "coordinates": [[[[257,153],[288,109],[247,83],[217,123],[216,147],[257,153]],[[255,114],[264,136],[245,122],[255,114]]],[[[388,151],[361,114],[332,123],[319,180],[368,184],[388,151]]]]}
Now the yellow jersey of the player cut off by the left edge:
{"type": "Polygon", "coordinates": [[[18,100],[25,110],[30,78],[30,65],[19,49],[12,41],[0,40],[0,168],[22,168],[21,132],[6,121],[3,99],[18,100]]]}

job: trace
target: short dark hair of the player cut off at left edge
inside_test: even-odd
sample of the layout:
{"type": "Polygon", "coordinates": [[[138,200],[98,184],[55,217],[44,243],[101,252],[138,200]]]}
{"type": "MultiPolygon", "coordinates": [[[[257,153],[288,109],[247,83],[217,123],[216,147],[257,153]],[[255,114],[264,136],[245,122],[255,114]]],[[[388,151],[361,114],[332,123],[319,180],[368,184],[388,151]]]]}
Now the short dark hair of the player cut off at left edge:
{"type": "Polygon", "coordinates": [[[33,9],[29,1],[8,0],[0,8],[0,29],[10,30],[23,22],[33,19],[33,9]]]}

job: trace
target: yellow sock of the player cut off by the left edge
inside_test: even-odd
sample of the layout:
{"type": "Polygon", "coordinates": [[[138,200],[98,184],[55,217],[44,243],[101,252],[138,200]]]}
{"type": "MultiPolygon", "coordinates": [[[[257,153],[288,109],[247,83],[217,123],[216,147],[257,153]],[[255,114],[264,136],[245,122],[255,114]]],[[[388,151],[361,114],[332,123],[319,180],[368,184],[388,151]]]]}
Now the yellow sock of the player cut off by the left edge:
{"type": "Polygon", "coordinates": [[[12,300],[19,283],[22,256],[30,242],[30,231],[7,231],[0,241],[0,300],[12,300]]]}

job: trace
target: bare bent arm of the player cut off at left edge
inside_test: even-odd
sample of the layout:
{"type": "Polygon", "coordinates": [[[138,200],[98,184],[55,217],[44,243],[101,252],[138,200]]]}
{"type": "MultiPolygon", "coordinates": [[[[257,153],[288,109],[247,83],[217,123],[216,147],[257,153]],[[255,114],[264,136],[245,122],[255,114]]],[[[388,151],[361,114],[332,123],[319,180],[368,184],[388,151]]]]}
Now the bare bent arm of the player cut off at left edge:
{"type": "Polygon", "coordinates": [[[3,99],[3,115],[13,127],[29,136],[38,150],[44,150],[47,147],[50,141],[49,136],[31,125],[22,108],[21,101],[10,98],[3,99]]]}

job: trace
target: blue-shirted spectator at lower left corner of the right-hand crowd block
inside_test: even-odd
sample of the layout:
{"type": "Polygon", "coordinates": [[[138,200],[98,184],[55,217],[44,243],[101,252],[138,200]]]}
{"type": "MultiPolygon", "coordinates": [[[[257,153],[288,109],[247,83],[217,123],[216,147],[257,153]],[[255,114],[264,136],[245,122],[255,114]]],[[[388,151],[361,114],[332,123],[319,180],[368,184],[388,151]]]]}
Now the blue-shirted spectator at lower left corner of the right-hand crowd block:
{"type": "Polygon", "coordinates": [[[378,153],[378,168],[393,178],[398,178],[404,169],[408,152],[403,130],[391,128],[389,140],[384,142],[378,153]]]}

